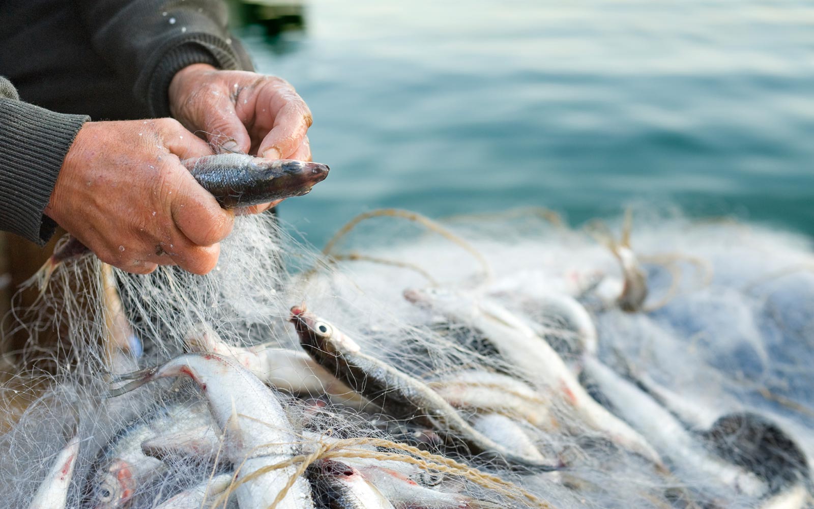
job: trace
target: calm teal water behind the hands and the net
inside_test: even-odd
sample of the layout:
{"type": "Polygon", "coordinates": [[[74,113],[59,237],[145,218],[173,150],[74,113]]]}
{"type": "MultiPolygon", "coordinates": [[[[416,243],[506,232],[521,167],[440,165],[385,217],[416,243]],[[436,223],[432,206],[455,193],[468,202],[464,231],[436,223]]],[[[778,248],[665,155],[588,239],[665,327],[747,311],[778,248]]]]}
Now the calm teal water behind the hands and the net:
{"type": "Polygon", "coordinates": [[[677,204],[814,235],[814,2],[315,0],[242,30],[331,166],[282,217],[677,204]]]}

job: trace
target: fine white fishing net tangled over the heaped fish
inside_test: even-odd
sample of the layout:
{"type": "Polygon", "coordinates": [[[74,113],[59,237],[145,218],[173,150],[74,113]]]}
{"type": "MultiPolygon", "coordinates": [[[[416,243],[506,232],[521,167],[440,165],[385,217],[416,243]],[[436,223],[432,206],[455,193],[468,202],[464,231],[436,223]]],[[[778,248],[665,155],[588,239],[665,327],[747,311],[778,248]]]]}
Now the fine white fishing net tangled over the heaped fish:
{"type": "MultiPolygon", "coordinates": [[[[307,479],[317,507],[387,507],[369,491],[326,502],[337,472],[405,508],[805,507],[810,242],[729,220],[633,217],[643,302],[620,269],[623,217],[574,229],[530,209],[442,224],[370,213],[326,253],[268,216],[241,217],[207,276],[66,261],[36,308],[4,324],[30,340],[5,360],[15,376],[2,388],[0,507],[28,507],[74,435],[66,507],[237,507],[234,445],[207,391],[167,379],[108,394],[125,383],[116,375],[190,351],[265,375],[296,442],[276,467],[307,479]],[[636,311],[620,309],[623,294],[636,311]],[[379,408],[335,380],[300,348],[292,306],[440,394],[469,428],[396,419],[387,397],[379,408]],[[54,328],[59,340],[42,340],[54,328]],[[474,450],[470,432],[558,472],[474,450]],[[132,479],[105,480],[125,460],[132,479]],[[126,502],[100,502],[123,487],[126,502]]],[[[392,387],[394,399],[405,390],[392,387]]]]}

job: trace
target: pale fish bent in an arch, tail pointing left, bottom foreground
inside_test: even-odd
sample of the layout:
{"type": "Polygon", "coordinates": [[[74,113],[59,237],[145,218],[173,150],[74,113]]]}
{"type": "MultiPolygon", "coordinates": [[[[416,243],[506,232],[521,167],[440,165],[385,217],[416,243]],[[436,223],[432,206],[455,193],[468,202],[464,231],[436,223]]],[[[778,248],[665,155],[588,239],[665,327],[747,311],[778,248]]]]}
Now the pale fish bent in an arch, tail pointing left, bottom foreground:
{"type": "MultiPolygon", "coordinates": [[[[152,380],[187,376],[209,400],[212,417],[225,437],[224,453],[241,465],[236,480],[248,479],[235,491],[242,509],[269,507],[296,472],[295,466],[257,471],[290,460],[297,454],[296,437],[278,396],[238,362],[215,353],[186,353],[119,380],[133,380],[109,391],[111,397],[127,393],[152,380]],[[251,476],[251,477],[249,477],[251,476]]],[[[277,509],[312,509],[307,480],[293,481],[277,509]]]]}

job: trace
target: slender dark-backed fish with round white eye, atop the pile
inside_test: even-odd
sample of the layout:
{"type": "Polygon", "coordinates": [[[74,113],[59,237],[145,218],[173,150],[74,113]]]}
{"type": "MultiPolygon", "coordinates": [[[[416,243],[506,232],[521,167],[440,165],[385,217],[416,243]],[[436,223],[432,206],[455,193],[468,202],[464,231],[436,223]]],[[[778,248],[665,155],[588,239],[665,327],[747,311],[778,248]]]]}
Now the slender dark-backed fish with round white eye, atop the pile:
{"type": "Polygon", "coordinates": [[[396,419],[413,421],[462,442],[472,454],[539,472],[559,468],[556,464],[513,454],[484,437],[427,384],[361,353],[354,340],[305,309],[291,308],[291,322],[303,349],[315,361],[396,419]]]}

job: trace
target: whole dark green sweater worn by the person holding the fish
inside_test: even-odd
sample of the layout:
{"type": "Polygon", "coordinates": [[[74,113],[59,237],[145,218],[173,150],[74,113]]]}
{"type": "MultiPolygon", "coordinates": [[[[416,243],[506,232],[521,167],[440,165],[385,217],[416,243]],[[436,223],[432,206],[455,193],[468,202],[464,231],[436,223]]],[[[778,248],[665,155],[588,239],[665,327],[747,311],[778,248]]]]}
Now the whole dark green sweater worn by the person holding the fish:
{"type": "Polygon", "coordinates": [[[43,210],[85,121],[169,116],[190,64],[252,69],[227,14],[218,0],[0,0],[0,230],[53,235],[43,210]]]}

